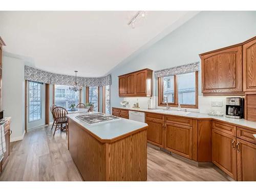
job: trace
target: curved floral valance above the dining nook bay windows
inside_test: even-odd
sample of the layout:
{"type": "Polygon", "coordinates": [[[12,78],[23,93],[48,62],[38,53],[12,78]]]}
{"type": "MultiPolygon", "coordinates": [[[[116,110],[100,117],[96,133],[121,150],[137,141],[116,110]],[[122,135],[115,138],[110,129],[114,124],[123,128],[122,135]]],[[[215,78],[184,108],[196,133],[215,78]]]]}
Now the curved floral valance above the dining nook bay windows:
{"type": "MultiPolygon", "coordinates": [[[[49,84],[62,84],[72,86],[75,81],[75,76],[61,75],[46,72],[43,70],[35,69],[25,66],[25,79],[30,81],[37,81],[49,84]]],[[[111,75],[105,77],[77,77],[79,86],[108,86],[111,84],[111,75]]]]}

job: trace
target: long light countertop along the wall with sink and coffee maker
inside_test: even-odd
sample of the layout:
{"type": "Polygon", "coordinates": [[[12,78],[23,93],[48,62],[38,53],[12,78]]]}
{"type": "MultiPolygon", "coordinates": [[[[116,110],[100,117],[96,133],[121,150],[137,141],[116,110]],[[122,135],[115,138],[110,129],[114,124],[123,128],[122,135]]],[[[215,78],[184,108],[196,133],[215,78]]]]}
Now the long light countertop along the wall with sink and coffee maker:
{"type": "Polygon", "coordinates": [[[213,119],[213,120],[221,120],[227,123],[231,124],[236,124],[238,126],[245,126],[249,127],[250,129],[255,129],[256,130],[256,122],[253,121],[247,121],[245,119],[232,119],[232,118],[227,118],[225,116],[219,117],[219,116],[211,116],[208,114],[203,114],[203,113],[196,113],[196,112],[190,112],[187,115],[178,115],[178,114],[169,114],[169,113],[164,113],[164,112],[154,112],[153,110],[149,109],[141,109],[141,108],[131,108],[131,107],[114,107],[117,109],[123,109],[123,110],[132,110],[132,111],[138,111],[138,112],[150,112],[150,113],[158,113],[158,114],[164,114],[164,115],[173,115],[173,116],[181,116],[181,117],[188,117],[188,118],[193,118],[193,119],[213,119]]]}

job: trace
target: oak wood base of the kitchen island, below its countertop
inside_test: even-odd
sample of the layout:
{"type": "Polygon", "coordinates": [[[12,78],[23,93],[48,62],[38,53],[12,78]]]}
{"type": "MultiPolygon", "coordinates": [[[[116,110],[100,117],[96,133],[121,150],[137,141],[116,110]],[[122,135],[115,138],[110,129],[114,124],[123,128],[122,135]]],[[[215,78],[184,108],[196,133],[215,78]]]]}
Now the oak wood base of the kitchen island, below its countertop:
{"type": "Polygon", "coordinates": [[[146,181],[146,129],[102,140],[69,118],[69,151],[83,180],[146,181]]]}

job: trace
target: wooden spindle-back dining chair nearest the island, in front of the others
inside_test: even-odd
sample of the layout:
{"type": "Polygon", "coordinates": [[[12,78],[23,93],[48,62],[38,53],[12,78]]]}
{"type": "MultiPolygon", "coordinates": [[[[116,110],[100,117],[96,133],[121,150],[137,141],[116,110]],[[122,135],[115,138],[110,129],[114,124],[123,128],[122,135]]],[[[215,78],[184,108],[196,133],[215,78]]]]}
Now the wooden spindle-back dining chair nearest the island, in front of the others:
{"type": "Polygon", "coordinates": [[[55,130],[53,133],[53,136],[55,135],[55,132],[57,130],[62,130],[63,125],[65,124],[66,127],[66,134],[68,134],[69,131],[69,125],[68,125],[68,118],[66,115],[68,114],[68,111],[65,108],[62,108],[61,106],[57,106],[53,109],[53,117],[55,119],[55,130]]]}

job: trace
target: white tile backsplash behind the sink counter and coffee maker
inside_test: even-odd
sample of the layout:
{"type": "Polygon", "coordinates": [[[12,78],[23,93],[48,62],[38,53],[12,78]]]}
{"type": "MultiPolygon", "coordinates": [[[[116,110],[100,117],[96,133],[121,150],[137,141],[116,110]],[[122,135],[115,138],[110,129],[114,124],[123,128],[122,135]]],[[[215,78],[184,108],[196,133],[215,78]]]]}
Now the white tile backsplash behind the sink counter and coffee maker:
{"type": "MultiPolygon", "coordinates": [[[[225,113],[227,97],[238,97],[238,96],[213,96],[213,97],[207,96],[207,97],[204,97],[202,95],[199,95],[198,96],[198,108],[199,109],[187,108],[187,110],[193,111],[193,112],[200,112],[200,113],[204,113],[204,114],[207,114],[209,111],[212,111],[212,110],[221,111],[221,112],[225,113]],[[222,102],[222,106],[211,106],[212,102],[219,102],[219,103],[222,102]]],[[[123,98],[123,100],[129,101],[128,106],[130,106],[130,107],[132,107],[133,104],[137,102],[137,99],[138,99],[140,108],[147,109],[147,103],[148,103],[149,97],[124,97],[123,98]]],[[[164,107],[162,107],[162,106],[157,106],[157,101],[158,101],[158,97],[153,96],[152,97],[153,108],[164,109],[164,107]]]]}

